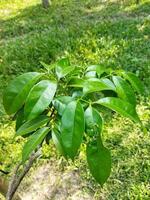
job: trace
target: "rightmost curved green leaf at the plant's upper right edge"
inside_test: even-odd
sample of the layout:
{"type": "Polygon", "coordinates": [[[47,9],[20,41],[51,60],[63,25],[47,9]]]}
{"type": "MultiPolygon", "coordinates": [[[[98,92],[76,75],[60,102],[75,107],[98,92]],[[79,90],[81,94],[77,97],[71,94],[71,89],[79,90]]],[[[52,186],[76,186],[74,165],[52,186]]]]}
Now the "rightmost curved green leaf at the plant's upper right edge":
{"type": "Polygon", "coordinates": [[[144,85],[141,80],[132,72],[124,72],[122,73],[125,79],[127,79],[132,87],[137,91],[139,94],[144,94],[145,89],[144,85]]]}

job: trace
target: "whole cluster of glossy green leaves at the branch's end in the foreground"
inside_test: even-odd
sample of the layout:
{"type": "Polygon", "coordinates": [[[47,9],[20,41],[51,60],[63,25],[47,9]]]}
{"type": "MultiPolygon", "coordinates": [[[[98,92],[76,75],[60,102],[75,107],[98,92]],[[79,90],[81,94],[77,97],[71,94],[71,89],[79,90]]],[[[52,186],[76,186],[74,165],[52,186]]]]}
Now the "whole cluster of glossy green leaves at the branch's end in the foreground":
{"type": "MultiPolygon", "coordinates": [[[[118,74],[117,71],[106,71],[103,70],[104,67],[102,70],[100,68],[101,66],[97,65],[96,68],[87,67],[85,69],[85,71],[88,69],[88,72],[94,72],[95,78],[87,77],[84,71],[75,76],[76,68],[71,67],[67,58],[63,58],[55,65],[55,76],[50,75],[53,68],[51,70],[49,68],[48,72],[46,69],[41,77],[43,80],[38,82],[36,79],[38,83],[34,82],[32,86],[28,84],[27,76],[38,74],[36,72],[25,73],[10,82],[3,98],[6,111],[9,110],[7,96],[12,102],[15,102],[16,96],[22,96],[22,90],[15,90],[14,95],[12,88],[18,88],[19,83],[23,83],[23,86],[21,84],[19,86],[28,88],[24,90],[28,91],[28,93],[25,92],[25,100],[18,98],[16,102],[17,105],[22,105],[21,113],[24,111],[16,136],[28,137],[22,151],[22,163],[26,162],[33,150],[51,138],[59,152],[65,158],[72,160],[77,156],[83,142],[87,144],[87,162],[93,177],[101,185],[105,183],[111,171],[111,157],[109,150],[102,143],[103,120],[99,113],[100,110],[94,106],[96,104],[106,106],[134,122],[141,124],[141,121],[136,112],[134,91],[129,84],[120,76],[113,76],[118,74]],[[70,77],[76,79],[77,85],[82,87],[78,89],[77,85],[70,85],[70,77]],[[80,79],[83,81],[81,82],[80,79]],[[105,94],[105,91],[113,91],[115,97],[110,97],[109,93],[105,94]],[[67,96],[60,96],[66,93],[67,96]],[[131,98],[133,98],[132,101],[131,98]]],[[[141,84],[138,78],[131,79],[132,85],[134,82],[136,84],[137,80],[141,84]]],[[[17,116],[18,119],[20,106],[15,108],[15,117],[17,116]]]]}

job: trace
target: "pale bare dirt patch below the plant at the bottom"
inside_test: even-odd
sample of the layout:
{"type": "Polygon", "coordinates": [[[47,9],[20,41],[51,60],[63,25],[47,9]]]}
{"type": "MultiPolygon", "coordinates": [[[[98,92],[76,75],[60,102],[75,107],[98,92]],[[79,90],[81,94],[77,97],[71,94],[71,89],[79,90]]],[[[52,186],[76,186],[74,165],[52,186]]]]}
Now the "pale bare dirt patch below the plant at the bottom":
{"type": "Polygon", "coordinates": [[[31,171],[18,192],[22,200],[92,200],[76,169],[61,170],[59,162],[49,162],[31,171]]]}

